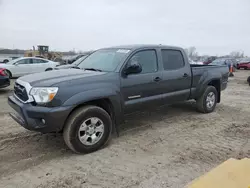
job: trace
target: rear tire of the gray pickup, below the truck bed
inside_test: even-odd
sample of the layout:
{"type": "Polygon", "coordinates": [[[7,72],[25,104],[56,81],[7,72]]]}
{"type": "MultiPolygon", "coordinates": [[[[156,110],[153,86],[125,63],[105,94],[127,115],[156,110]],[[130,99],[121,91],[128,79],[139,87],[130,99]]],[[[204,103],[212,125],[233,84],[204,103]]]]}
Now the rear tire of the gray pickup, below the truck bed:
{"type": "Polygon", "coordinates": [[[214,86],[208,86],[204,93],[196,100],[197,110],[202,113],[211,113],[214,111],[218,99],[218,92],[214,86]],[[207,104],[207,99],[211,96],[211,93],[214,95],[214,102],[212,105],[207,104]]]}

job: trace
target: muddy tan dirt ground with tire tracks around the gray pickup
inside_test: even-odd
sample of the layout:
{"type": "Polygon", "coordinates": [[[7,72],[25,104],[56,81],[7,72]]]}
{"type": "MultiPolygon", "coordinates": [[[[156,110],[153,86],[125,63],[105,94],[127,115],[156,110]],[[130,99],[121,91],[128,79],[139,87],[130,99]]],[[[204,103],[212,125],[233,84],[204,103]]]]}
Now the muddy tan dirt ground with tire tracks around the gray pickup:
{"type": "Polygon", "coordinates": [[[193,102],[128,117],[120,137],[95,153],[76,155],[62,135],[17,125],[0,91],[0,187],[184,187],[228,158],[250,157],[250,71],[230,78],[211,114],[193,102]]]}

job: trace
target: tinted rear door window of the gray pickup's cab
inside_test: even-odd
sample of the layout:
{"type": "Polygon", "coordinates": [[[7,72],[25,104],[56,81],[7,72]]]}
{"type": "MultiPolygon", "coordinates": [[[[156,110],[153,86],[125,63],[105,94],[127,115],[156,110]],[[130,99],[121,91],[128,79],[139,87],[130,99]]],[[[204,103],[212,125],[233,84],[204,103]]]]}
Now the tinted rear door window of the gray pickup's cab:
{"type": "Polygon", "coordinates": [[[161,54],[164,70],[177,70],[185,66],[183,54],[180,50],[162,49],[161,54]]]}

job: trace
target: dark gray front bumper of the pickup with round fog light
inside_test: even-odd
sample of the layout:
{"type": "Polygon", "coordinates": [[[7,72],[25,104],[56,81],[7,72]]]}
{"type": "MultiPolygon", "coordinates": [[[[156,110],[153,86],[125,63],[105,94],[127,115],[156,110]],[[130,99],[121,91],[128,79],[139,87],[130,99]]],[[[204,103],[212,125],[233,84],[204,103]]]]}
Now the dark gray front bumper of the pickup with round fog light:
{"type": "Polygon", "coordinates": [[[30,103],[20,102],[14,96],[8,97],[8,103],[15,110],[10,116],[18,124],[28,130],[42,133],[61,131],[73,109],[72,106],[53,108],[33,106],[30,103]]]}

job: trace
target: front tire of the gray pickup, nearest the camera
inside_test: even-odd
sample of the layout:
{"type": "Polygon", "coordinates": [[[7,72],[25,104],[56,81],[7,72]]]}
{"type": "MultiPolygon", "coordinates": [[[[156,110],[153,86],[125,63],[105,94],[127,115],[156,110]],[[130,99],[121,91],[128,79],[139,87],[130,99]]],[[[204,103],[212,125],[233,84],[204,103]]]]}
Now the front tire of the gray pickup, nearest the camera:
{"type": "MultiPolygon", "coordinates": [[[[97,125],[97,123],[95,124],[97,125]]],[[[88,125],[88,129],[90,129],[91,125],[88,125]]],[[[93,128],[92,128],[93,130],[93,128]]],[[[96,129],[94,128],[94,131],[96,129]]],[[[63,137],[64,137],[64,141],[66,143],[66,145],[75,153],[91,153],[94,152],[96,150],[99,150],[100,148],[104,147],[110,136],[111,136],[111,132],[112,132],[112,120],[110,115],[102,108],[97,107],[97,106],[85,106],[82,108],[79,108],[77,110],[75,110],[70,117],[68,118],[66,125],[63,129],[63,137]],[[91,133],[89,133],[89,130],[82,130],[80,131],[80,128],[84,128],[84,126],[82,127],[82,125],[86,125],[88,122],[91,121],[92,119],[99,119],[98,123],[99,126],[103,125],[103,132],[101,134],[101,136],[99,136],[98,132],[92,132],[92,136],[95,135],[95,137],[99,137],[97,138],[97,142],[90,144],[93,140],[92,137],[90,136],[91,133]],[[90,119],[90,120],[89,120],[90,119]],[[84,124],[85,123],[85,124],[84,124]],[[81,135],[82,134],[82,135],[81,135]],[[89,135],[90,134],[90,135],[89,135]],[[97,136],[96,136],[97,135],[97,136]],[[84,139],[86,143],[83,143],[82,141],[80,141],[80,137],[88,137],[88,139],[84,139]],[[89,139],[90,138],[90,139],[89,139]],[[89,140],[89,141],[86,141],[89,140]],[[90,144],[90,145],[89,145],[90,144]]]]}

